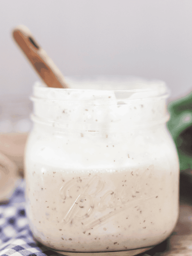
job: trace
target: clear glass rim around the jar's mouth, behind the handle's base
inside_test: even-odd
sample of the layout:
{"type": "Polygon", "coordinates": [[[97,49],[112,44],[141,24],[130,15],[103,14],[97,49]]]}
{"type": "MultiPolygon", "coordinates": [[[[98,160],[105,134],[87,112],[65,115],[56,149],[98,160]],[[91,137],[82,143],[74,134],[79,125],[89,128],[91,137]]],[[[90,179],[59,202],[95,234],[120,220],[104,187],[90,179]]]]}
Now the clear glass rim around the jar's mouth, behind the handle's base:
{"type": "Polygon", "coordinates": [[[170,90],[160,80],[142,80],[139,78],[122,80],[72,80],[67,78],[71,88],[51,88],[36,82],[33,96],[54,101],[125,101],[147,98],[168,98],[170,90]]]}

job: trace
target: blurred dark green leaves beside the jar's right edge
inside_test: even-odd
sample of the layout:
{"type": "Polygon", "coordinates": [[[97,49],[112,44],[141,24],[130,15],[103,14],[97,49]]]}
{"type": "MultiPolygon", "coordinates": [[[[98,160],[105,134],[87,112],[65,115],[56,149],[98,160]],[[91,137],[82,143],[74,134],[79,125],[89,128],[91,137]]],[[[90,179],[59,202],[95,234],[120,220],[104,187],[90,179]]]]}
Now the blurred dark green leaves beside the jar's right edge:
{"type": "Polygon", "coordinates": [[[170,113],[167,128],[176,145],[180,170],[192,169],[192,92],[171,101],[167,109],[170,113]]]}

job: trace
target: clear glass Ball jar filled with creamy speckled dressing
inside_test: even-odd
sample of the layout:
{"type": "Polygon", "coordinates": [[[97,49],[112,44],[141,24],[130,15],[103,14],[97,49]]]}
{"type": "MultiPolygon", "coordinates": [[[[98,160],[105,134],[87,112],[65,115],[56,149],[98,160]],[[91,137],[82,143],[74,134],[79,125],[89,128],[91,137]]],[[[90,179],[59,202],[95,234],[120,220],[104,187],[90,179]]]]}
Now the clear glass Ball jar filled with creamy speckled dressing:
{"type": "Polygon", "coordinates": [[[167,87],[139,80],[70,84],[79,89],[34,87],[25,152],[34,238],[64,255],[148,250],[178,218],[167,87]]]}

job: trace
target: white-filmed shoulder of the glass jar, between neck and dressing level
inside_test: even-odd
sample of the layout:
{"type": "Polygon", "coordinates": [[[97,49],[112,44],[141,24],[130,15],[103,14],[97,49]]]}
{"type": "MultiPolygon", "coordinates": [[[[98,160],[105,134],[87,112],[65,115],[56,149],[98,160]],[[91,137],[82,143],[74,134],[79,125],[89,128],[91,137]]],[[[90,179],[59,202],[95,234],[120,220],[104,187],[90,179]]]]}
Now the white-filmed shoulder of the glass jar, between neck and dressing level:
{"type": "Polygon", "coordinates": [[[47,134],[33,130],[28,138],[26,161],[33,159],[50,165],[106,168],[159,163],[178,165],[173,140],[166,128],[124,134],[47,134]]]}

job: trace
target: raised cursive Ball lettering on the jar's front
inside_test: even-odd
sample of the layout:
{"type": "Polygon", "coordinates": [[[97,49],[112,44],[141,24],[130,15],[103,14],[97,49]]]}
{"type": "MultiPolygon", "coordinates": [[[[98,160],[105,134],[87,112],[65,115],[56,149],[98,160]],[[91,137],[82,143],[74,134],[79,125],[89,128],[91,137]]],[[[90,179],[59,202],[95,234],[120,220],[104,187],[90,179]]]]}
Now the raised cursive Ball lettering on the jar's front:
{"type": "Polygon", "coordinates": [[[113,186],[113,190],[98,175],[71,179],[60,189],[61,198],[69,202],[61,223],[73,224],[77,219],[83,221],[85,230],[89,230],[135,203],[157,197],[157,194],[147,196],[141,193],[153,169],[151,165],[143,173],[131,172],[132,181],[123,179],[118,187],[113,186]]]}

